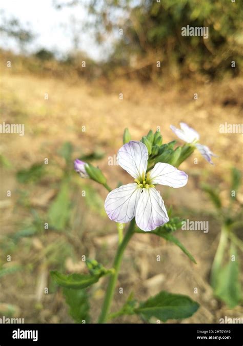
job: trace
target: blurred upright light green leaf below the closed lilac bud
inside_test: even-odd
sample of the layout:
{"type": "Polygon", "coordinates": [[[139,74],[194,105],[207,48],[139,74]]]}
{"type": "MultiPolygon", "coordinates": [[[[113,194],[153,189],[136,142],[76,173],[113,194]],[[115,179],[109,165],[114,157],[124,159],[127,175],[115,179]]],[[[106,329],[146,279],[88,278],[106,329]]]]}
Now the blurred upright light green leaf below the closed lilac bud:
{"type": "Polygon", "coordinates": [[[48,210],[50,225],[56,230],[64,230],[70,218],[69,186],[65,182],[48,210]]]}

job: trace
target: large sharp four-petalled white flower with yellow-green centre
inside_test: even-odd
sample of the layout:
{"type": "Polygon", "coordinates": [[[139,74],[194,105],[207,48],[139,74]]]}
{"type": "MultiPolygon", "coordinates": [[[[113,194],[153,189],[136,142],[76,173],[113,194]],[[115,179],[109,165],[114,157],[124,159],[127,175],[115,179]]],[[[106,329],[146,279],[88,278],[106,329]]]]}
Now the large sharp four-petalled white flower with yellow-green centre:
{"type": "Polygon", "coordinates": [[[158,162],[151,172],[148,167],[147,147],[131,140],[119,149],[118,164],[133,178],[133,184],[112,190],[106,200],[105,209],[113,221],[126,223],[134,216],[137,226],[143,231],[152,231],[169,221],[164,201],[154,184],[180,188],[187,184],[188,175],[175,167],[158,162]]]}

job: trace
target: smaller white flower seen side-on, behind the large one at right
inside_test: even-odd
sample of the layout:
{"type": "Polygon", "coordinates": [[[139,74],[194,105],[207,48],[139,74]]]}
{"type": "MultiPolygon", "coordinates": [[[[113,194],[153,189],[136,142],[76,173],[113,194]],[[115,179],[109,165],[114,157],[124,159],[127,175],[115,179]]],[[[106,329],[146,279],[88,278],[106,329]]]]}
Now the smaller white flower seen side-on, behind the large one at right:
{"type": "Polygon", "coordinates": [[[173,125],[170,126],[171,130],[176,134],[177,137],[184,140],[187,143],[193,144],[200,152],[200,154],[211,164],[213,165],[213,161],[211,160],[211,156],[217,157],[207,146],[203,146],[197,143],[199,139],[199,134],[189,127],[185,123],[180,123],[180,129],[177,129],[173,125]]]}

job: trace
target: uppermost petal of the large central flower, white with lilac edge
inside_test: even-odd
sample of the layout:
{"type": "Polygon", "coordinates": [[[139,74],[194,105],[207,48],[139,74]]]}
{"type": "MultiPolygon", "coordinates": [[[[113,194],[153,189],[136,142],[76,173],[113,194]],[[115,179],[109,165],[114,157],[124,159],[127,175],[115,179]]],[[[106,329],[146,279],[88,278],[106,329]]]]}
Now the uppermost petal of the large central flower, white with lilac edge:
{"type": "Polygon", "coordinates": [[[139,178],[147,170],[148,149],[144,143],[130,140],[118,150],[117,162],[133,178],[139,178]]]}

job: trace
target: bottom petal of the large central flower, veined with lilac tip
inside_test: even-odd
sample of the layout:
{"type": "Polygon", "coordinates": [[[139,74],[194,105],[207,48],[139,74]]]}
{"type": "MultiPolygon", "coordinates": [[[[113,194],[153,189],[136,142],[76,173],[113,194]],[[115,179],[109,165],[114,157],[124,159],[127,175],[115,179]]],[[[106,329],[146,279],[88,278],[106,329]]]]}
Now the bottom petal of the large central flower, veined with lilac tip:
{"type": "Polygon", "coordinates": [[[155,188],[143,189],[135,217],[137,226],[143,231],[152,231],[169,221],[164,200],[155,188]]]}

